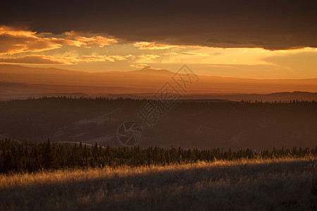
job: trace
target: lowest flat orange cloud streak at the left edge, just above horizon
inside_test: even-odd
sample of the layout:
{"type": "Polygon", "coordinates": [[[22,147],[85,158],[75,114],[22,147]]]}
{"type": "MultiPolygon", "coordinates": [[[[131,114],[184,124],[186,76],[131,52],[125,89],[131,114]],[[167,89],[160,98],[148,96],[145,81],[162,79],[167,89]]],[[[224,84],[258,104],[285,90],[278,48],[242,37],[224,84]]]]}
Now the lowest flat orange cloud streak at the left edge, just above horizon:
{"type": "Polygon", "coordinates": [[[21,58],[0,58],[0,63],[15,64],[46,64],[46,65],[73,65],[80,60],[76,57],[54,57],[44,55],[29,55],[21,58]]]}

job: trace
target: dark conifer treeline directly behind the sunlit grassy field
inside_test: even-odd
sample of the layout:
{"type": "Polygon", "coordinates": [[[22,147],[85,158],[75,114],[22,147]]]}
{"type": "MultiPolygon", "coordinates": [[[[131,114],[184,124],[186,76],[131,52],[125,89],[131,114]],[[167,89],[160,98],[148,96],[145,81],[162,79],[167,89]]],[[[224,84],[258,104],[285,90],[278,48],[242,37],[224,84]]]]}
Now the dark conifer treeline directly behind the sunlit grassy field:
{"type": "Polygon", "coordinates": [[[259,153],[247,149],[245,151],[223,151],[220,148],[211,150],[159,147],[141,149],[134,148],[102,148],[86,146],[80,143],[44,143],[18,142],[6,139],[0,141],[0,172],[37,172],[39,170],[56,170],[63,168],[118,167],[123,165],[168,165],[213,160],[240,160],[242,158],[303,158],[317,156],[315,148],[273,149],[259,153]]]}

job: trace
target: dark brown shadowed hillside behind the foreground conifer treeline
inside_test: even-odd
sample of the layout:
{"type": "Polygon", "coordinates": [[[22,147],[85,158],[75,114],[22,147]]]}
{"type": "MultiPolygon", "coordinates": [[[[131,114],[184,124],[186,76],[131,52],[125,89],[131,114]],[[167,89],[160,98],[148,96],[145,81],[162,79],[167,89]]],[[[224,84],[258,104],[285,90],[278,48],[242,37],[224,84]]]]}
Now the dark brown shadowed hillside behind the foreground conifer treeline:
{"type": "MultiPolygon", "coordinates": [[[[0,102],[2,137],[27,141],[82,141],[121,146],[120,124],[142,124],[131,99],[42,98],[0,102]]],[[[317,104],[199,103],[181,101],[153,129],[143,127],[139,146],[265,148],[316,146],[317,104]]]]}

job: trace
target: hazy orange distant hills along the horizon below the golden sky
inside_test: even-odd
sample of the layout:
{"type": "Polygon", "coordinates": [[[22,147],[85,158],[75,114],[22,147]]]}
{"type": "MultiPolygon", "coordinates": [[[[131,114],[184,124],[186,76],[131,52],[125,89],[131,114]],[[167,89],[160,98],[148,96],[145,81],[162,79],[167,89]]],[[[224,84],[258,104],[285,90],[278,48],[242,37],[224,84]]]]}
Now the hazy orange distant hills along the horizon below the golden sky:
{"type": "Polygon", "coordinates": [[[317,79],[244,79],[199,75],[199,82],[188,85],[187,92],[184,92],[173,82],[174,74],[169,70],[149,67],[130,72],[91,73],[0,65],[0,100],[61,95],[151,98],[166,82],[170,82],[185,98],[316,100],[317,79]],[[288,94],[294,91],[299,92],[288,94]],[[279,94],[268,95],[276,92],[280,93],[281,98],[279,94]]]}

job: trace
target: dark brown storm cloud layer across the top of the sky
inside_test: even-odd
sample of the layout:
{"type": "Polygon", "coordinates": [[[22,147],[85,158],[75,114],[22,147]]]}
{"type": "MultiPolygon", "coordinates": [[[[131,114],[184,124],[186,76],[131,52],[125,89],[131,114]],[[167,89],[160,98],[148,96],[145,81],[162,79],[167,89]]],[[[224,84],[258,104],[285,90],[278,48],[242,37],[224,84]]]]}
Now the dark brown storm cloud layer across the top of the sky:
{"type": "Polygon", "coordinates": [[[168,44],[317,47],[315,1],[8,1],[0,24],[168,44]]]}

